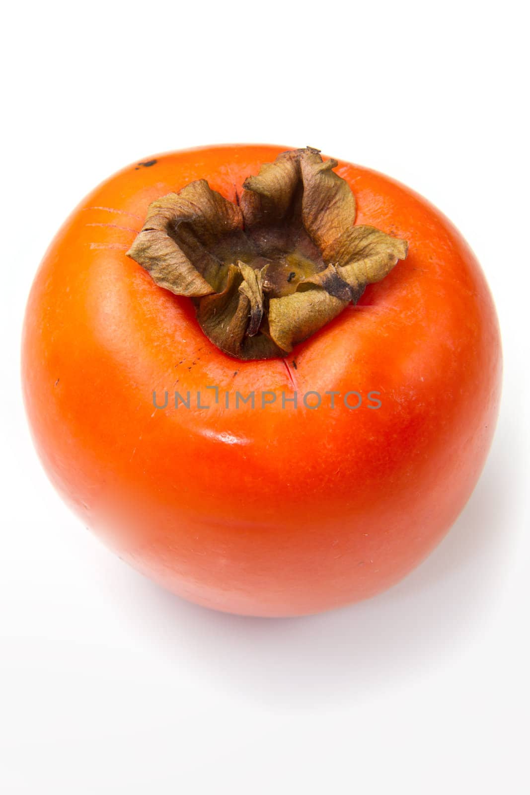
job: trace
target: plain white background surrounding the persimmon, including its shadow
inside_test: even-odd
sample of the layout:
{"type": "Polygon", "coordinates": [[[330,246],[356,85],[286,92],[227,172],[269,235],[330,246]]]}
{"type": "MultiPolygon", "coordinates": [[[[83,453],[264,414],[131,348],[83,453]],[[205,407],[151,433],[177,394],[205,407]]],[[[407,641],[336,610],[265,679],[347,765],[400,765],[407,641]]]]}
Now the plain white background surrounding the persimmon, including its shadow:
{"type": "Polygon", "coordinates": [[[0,791],[528,792],[528,25],[524,4],[11,3],[2,17],[0,791]],[[313,145],[416,188],[486,271],[505,347],[486,470],[392,591],[218,615],[62,505],[19,393],[29,286],[130,161],[313,145]]]}

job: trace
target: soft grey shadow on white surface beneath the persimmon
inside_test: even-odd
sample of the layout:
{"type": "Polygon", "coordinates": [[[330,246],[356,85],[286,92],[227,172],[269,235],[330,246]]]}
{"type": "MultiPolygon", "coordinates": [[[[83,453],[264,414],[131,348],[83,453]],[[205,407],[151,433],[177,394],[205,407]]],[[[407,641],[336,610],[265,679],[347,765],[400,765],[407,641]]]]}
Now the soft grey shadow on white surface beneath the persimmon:
{"type": "Polygon", "coordinates": [[[482,630],[502,587],[518,444],[507,430],[451,532],[385,594],[308,618],[249,619],[188,604],[130,572],[124,618],[176,667],[278,708],[333,706],[421,678],[482,630]]]}

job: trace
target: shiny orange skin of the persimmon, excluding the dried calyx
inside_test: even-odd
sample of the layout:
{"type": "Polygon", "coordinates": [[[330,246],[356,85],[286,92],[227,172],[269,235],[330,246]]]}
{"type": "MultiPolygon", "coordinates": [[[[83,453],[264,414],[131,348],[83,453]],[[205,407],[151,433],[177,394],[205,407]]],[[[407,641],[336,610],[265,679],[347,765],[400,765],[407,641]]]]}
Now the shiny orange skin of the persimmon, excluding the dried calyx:
{"type": "Polygon", "coordinates": [[[408,574],[473,491],[501,386],[497,317],[474,255],[435,207],[369,169],[336,169],[356,223],[407,239],[408,258],[286,359],[222,354],[191,302],[126,257],[151,201],[202,178],[236,200],[284,149],[193,149],[112,176],[45,255],[22,344],[29,423],[60,494],[145,575],[244,615],[324,611],[408,574]],[[284,408],[293,389],[298,408],[284,408]],[[168,390],[167,409],[153,390],[159,403],[168,390]],[[176,390],[191,392],[190,409],[173,407],[176,390]],[[235,409],[236,390],[278,397],[235,409]],[[342,399],[352,390],[358,409],[342,399]],[[304,407],[308,391],[318,409],[304,407]],[[330,391],[341,393],[335,409],[330,391]]]}

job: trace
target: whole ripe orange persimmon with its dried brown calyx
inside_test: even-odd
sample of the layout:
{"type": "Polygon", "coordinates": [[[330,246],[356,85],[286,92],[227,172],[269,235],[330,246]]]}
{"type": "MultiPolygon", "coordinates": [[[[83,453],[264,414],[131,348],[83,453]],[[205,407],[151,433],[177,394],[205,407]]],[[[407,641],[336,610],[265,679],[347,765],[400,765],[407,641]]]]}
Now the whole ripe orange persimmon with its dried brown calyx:
{"type": "Polygon", "coordinates": [[[304,615],[389,588],[447,533],[501,345],[474,254],[415,192],[315,149],[211,146],[73,211],[22,382],[45,471],[119,556],[207,607],[304,615]]]}

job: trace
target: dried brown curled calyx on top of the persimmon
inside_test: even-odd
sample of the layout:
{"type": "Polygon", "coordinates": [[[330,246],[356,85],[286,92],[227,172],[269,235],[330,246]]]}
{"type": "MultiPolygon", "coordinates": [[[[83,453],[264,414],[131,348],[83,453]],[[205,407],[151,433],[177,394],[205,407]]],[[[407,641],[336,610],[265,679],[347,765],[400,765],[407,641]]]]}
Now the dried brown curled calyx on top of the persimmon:
{"type": "Polygon", "coordinates": [[[149,206],[128,255],[194,303],[203,332],[238,359],[284,356],[356,303],[407,255],[407,242],[354,226],[350,186],[317,149],[248,177],[234,204],[206,180],[149,206]]]}

